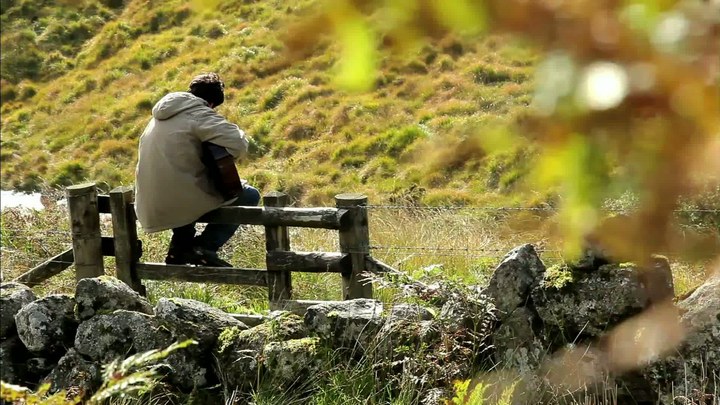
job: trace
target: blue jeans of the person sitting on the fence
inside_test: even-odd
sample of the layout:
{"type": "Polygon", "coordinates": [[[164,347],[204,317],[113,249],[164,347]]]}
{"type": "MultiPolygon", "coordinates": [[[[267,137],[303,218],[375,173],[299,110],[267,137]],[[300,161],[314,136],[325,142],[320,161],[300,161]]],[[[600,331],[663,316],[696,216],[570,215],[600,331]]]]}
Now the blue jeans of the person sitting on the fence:
{"type": "MultiPolygon", "coordinates": [[[[252,206],[260,203],[260,192],[247,184],[243,187],[242,195],[229,206],[252,206]]],[[[217,252],[235,234],[239,225],[235,224],[207,224],[205,230],[195,237],[195,222],[179,228],[173,228],[170,239],[170,250],[183,252],[194,246],[217,252]]]]}

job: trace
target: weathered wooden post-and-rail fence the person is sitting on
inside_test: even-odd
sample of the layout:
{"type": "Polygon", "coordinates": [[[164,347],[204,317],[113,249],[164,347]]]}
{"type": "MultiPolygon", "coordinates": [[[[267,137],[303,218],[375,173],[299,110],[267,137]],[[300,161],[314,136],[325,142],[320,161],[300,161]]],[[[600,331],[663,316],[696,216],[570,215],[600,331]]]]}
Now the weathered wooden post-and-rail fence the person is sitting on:
{"type": "MultiPolygon", "coordinates": [[[[365,272],[393,271],[368,253],[367,197],[339,194],[334,208],[286,207],[288,196],[271,192],[262,207],[218,208],[200,223],[262,225],[265,227],[266,269],[203,267],[144,263],[132,187],[118,187],[109,195],[98,195],[95,183],[68,187],[72,249],[28,271],[16,280],[35,285],[60,273],[73,262],[76,278],[105,274],[103,256],[114,256],[117,278],[145,295],[143,280],[176,280],[200,283],[252,285],[268,288],[271,304],[289,303],[292,272],[339,273],[344,299],[372,298],[372,285],[363,282],[365,272]],[[100,214],[112,216],[113,236],[102,236],[100,214]],[[338,231],[340,252],[293,252],[288,227],[323,228],[338,231]]],[[[303,306],[302,301],[293,301],[303,306]]],[[[307,302],[310,305],[312,302],[307,302]]]]}

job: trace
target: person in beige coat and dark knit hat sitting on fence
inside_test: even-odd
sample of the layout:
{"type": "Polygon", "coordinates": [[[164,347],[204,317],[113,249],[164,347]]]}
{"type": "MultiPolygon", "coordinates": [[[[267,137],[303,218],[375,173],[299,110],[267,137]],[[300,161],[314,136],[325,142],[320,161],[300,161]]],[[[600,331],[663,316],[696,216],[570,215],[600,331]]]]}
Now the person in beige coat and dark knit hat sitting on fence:
{"type": "Polygon", "coordinates": [[[232,267],[217,252],[238,225],[208,224],[196,236],[195,223],[222,206],[260,202],[259,191],[245,181],[240,196],[226,201],[202,160],[203,142],[226,148],[235,159],[247,154],[245,133],[215,111],[225,100],[224,91],[216,73],[196,76],[189,91],[171,92],[155,104],[140,136],[135,212],[147,233],[172,229],[167,264],[232,267]]]}

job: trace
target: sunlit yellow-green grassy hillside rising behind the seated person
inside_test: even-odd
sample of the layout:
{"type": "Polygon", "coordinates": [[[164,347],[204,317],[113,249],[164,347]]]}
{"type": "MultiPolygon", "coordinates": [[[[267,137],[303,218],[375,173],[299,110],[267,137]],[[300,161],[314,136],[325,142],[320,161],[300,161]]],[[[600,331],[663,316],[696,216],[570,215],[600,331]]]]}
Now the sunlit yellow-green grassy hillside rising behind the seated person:
{"type": "Polygon", "coordinates": [[[348,94],[333,85],[331,41],[282,62],[283,27],[312,4],[2,0],[2,188],[132,183],[152,105],[212,70],[228,89],[219,111],[253,138],[241,175],[264,191],[305,204],[344,191],[377,202],[515,202],[529,148],[479,158],[468,134],[522,118],[530,49],[447,38],[383,60],[373,91],[348,94]]]}

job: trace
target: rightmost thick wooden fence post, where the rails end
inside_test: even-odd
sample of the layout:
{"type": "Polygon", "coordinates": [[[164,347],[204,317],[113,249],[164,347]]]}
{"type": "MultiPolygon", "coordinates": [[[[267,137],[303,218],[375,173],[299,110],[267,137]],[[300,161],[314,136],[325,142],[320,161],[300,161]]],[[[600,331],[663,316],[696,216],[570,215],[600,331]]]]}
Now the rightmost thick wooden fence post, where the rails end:
{"type": "Polygon", "coordinates": [[[349,253],[352,269],[343,273],[343,299],[372,298],[372,284],[363,284],[360,273],[365,271],[365,256],[370,249],[368,229],[367,197],[362,194],[338,194],[337,208],[349,209],[351,225],[340,229],[340,252],[349,253]]]}

